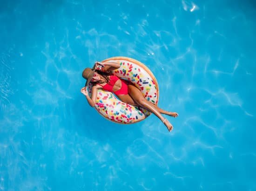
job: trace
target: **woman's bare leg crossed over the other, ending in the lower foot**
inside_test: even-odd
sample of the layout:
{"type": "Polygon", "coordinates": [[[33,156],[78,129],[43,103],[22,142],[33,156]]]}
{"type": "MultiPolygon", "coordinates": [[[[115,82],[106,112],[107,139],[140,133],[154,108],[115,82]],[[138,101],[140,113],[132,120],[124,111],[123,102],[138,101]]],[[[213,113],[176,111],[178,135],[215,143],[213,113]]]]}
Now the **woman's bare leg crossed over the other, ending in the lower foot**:
{"type": "MultiPolygon", "coordinates": [[[[141,106],[142,108],[148,109],[150,112],[155,114],[165,124],[165,126],[168,128],[169,131],[172,130],[172,128],[173,128],[172,124],[166,118],[164,118],[161,115],[161,113],[158,111],[158,109],[160,109],[160,108],[158,108],[154,104],[151,104],[150,102],[148,102],[143,97],[143,95],[141,94],[141,91],[138,88],[136,88],[134,85],[129,84],[128,91],[129,91],[129,95],[133,98],[133,100],[139,106],[141,106]]],[[[162,110],[162,111],[164,111],[164,110],[162,110]]]]}

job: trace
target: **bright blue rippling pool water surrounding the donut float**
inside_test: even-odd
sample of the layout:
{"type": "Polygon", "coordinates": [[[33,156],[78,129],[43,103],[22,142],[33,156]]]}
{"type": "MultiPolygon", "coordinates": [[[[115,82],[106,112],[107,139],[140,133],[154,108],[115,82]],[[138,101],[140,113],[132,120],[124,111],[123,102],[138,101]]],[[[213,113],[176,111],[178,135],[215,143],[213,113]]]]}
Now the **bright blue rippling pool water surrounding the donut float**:
{"type": "Polygon", "coordinates": [[[0,191],[255,191],[253,0],[1,1],[0,191]],[[157,78],[154,115],[115,124],[81,72],[125,56],[157,78]]]}

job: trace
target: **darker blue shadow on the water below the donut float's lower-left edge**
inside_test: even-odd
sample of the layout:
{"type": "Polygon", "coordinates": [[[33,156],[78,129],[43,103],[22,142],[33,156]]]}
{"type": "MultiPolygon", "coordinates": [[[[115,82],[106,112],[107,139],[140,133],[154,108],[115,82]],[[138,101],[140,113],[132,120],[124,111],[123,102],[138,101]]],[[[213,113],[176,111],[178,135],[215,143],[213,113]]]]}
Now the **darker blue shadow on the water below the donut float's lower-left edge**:
{"type": "Polygon", "coordinates": [[[71,113],[75,114],[74,130],[89,139],[96,140],[101,144],[112,146],[127,146],[133,140],[142,137],[140,125],[118,124],[103,118],[94,108],[91,108],[84,96],[78,96],[70,103],[71,113]],[[139,127],[138,127],[139,126],[139,127]]]}

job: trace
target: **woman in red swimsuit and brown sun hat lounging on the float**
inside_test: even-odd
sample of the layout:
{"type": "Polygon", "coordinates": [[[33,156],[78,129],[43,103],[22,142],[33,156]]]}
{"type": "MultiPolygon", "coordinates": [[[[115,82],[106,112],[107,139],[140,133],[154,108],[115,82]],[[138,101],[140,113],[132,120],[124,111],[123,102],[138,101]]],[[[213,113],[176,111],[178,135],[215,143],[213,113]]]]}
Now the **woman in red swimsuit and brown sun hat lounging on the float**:
{"type": "Polygon", "coordinates": [[[177,117],[178,114],[175,112],[168,112],[161,108],[158,108],[151,102],[148,102],[141,94],[141,91],[132,83],[123,80],[111,73],[112,70],[118,69],[120,64],[114,62],[100,63],[96,62],[94,68],[86,68],[83,70],[82,76],[87,79],[86,86],[81,89],[81,93],[87,98],[87,101],[91,107],[95,106],[97,89],[104,89],[111,91],[117,96],[122,102],[140,106],[147,109],[148,111],[155,114],[168,128],[168,131],[173,129],[172,124],[164,118],[161,114],[177,117]],[[93,84],[92,97],[88,95],[87,86],[89,83],[93,84]]]}

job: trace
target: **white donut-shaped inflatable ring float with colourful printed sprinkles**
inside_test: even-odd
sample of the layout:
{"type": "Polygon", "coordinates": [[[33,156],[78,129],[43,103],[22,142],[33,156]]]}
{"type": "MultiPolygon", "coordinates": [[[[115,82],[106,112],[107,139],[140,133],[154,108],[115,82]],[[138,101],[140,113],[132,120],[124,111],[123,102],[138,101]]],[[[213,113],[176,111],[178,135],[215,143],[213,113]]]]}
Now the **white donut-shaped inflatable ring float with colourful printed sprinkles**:
{"type": "MultiPolygon", "coordinates": [[[[119,63],[120,68],[113,70],[112,73],[133,83],[141,90],[146,100],[157,105],[159,98],[158,84],[147,66],[128,57],[111,57],[101,62],[119,63]]],[[[92,93],[91,89],[92,83],[89,83],[89,96],[92,93]]],[[[98,89],[94,108],[108,120],[121,124],[135,123],[144,120],[151,114],[147,109],[121,102],[112,92],[103,89],[98,89]]]]}

